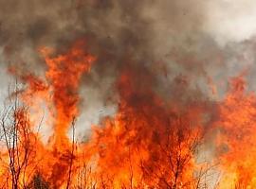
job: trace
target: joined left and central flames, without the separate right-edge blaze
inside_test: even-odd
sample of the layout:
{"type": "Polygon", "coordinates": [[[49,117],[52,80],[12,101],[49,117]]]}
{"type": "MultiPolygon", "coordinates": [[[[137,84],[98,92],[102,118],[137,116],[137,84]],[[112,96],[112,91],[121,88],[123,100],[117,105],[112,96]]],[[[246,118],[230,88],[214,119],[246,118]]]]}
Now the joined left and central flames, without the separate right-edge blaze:
{"type": "MultiPolygon", "coordinates": [[[[50,188],[192,188],[198,185],[194,176],[195,154],[203,136],[204,110],[194,106],[181,111],[175,102],[166,107],[150,86],[135,82],[135,79],[153,80],[150,73],[137,75],[133,64],[123,67],[116,84],[120,96],[117,114],[105,118],[101,127],[94,127],[86,144],[77,144],[67,136],[79,115],[82,74],[90,71],[95,60],[83,47],[83,42],[75,43],[67,53],[56,57],[43,48],[45,77],[11,69],[27,83],[27,88],[17,94],[28,107],[21,114],[28,117],[26,122],[20,122],[23,118],[19,116],[13,118],[26,133],[19,132],[21,142],[9,148],[19,153],[25,163],[21,167],[14,164],[14,172],[21,173],[14,178],[18,187],[31,184],[36,187],[36,180],[50,188]],[[41,141],[41,133],[33,128],[40,119],[42,102],[49,112],[50,121],[46,123],[53,129],[46,144],[41,141]],[[23,144],[27,144],[27,151],[23,144]]],[[[3,157],[5,165],[11,164],[9,151],[4,151],[3,157]]],[[[14,179],[9,179],[9,169],[4,164],[1,180],[9,180],[5,182],[9,187],[14,179]]]]}

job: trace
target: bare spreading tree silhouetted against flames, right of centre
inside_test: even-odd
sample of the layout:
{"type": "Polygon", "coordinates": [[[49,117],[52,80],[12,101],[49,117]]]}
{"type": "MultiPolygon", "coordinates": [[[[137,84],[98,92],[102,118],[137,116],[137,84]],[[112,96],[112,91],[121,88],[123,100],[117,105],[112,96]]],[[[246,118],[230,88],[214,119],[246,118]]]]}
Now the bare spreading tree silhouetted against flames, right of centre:
{"type": "Polygon", "coordinates": [[[204,177],[212,166],[202,164],[196,169],[193,164],[203,140],[203,133],[200,129],[192,128],[190,122],[180,117],[169,122],[164,133],[155,131],[158,146],[153,152],[155,160],[148,162],[141,158],[140,166],[145,180],[158,180],[153,183],[154,188],[209,188],[204,177]]]}

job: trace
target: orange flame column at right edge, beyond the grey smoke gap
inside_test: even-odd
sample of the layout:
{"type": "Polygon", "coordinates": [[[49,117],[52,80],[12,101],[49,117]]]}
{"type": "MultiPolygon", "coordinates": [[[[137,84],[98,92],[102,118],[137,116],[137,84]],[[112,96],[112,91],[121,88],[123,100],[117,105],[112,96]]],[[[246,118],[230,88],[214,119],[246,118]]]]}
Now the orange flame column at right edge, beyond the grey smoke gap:
{"type": "Polygon", "coordinates": [[[218,144],[223,151],[224,170],[220,188],[256,187],[256,95],[247,93],[246,87],[243,76],[233,78],[231,90],[220,106],[218,144]]]}

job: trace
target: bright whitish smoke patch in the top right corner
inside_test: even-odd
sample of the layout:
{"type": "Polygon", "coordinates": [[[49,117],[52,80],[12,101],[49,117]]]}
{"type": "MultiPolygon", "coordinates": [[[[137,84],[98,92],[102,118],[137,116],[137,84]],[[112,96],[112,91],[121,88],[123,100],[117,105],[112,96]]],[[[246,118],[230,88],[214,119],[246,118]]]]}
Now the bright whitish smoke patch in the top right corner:
{"type": "Polygon", "coordinates": [[[207,4],[205,30],[217,43],[240,43],[256,34],[256,1],[211,0],[207,4]]]}

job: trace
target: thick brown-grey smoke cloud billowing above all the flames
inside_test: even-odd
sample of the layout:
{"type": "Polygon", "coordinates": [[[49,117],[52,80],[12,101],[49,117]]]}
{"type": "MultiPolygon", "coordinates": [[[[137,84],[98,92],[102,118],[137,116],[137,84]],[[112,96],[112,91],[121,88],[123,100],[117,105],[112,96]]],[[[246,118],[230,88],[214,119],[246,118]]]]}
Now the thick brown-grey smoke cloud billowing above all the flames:
{"type": "Polygon", "coordinates": [[[82,78],[79,125],[87,120],[87,130],[117,110],[116,80],[125,69],[136,73],[137,91],[150,86],[167,106],[220,100],[229,77],[245,68],[253,90],[254,9],[252,0],[1,0],[1,61],[40,75],[40,47],[58,54],[85,39],[97,57],[82,78]]]}

